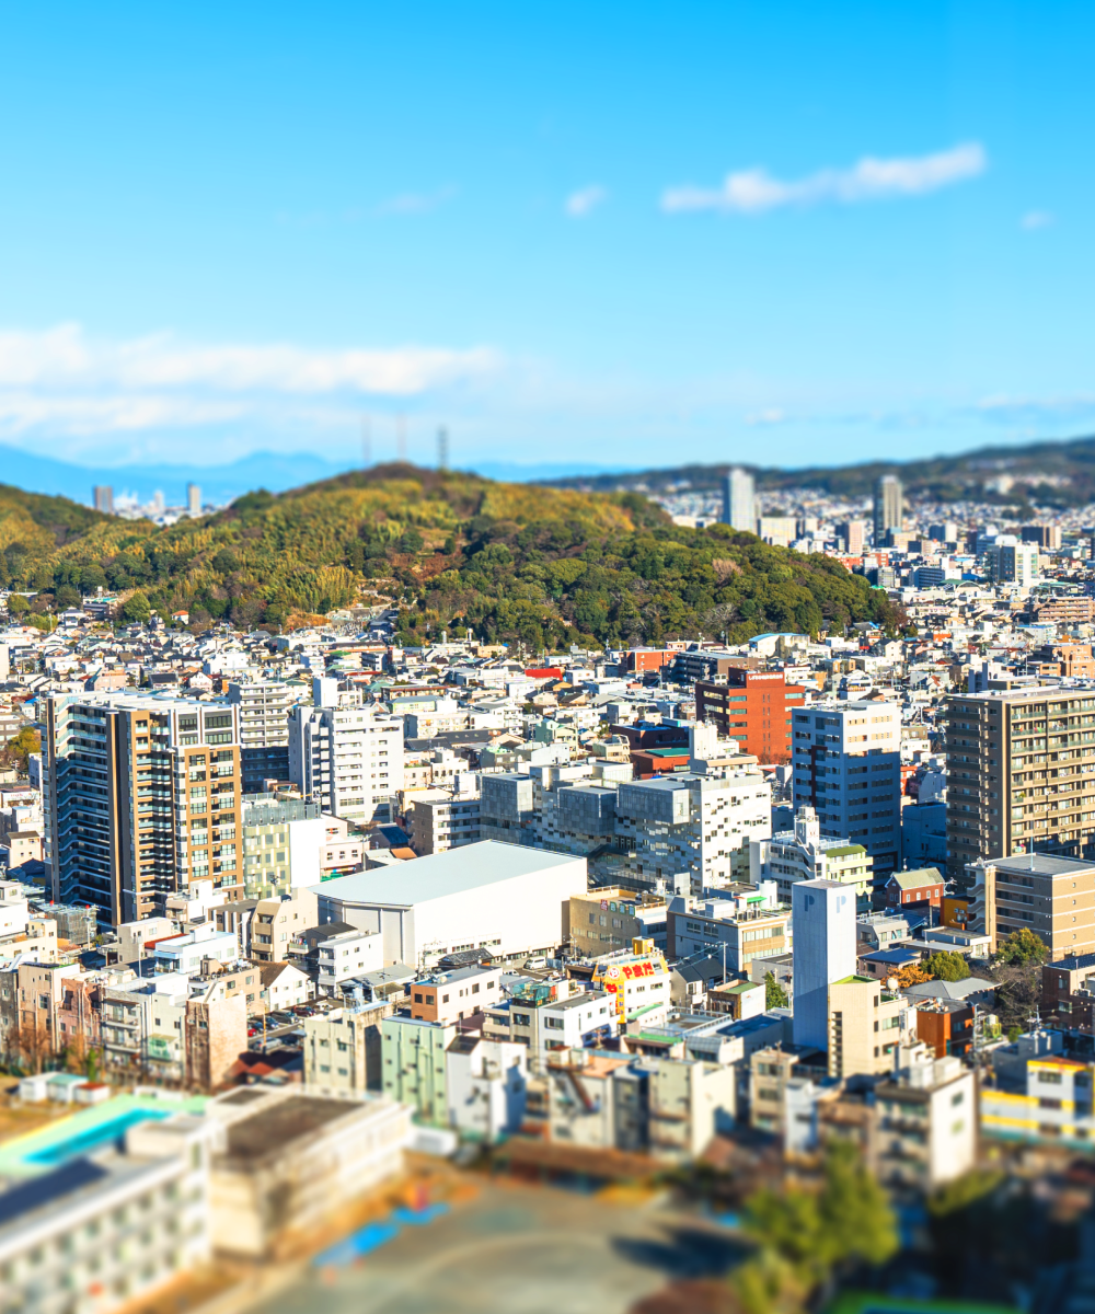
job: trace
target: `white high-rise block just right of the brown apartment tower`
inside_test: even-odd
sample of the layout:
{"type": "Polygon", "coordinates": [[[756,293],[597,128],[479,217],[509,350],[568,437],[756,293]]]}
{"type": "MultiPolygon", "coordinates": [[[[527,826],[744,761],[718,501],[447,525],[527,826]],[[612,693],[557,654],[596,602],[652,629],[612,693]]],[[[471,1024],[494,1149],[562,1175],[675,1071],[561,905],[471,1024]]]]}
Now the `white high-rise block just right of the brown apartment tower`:
{"type": "Polygon", "coordinates": [[[404,720],[312,682],[313,706],[289,715],[289,779],[325,812],[371,821],[404,786],[404,720]]]}

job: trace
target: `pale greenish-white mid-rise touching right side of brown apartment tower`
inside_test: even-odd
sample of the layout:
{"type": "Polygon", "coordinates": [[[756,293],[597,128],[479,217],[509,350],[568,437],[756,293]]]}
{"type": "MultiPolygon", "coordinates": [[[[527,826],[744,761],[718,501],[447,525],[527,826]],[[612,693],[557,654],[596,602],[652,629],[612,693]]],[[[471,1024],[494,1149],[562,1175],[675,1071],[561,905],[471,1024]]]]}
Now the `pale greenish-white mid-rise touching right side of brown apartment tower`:
{"type": "Polygon", "coordinates": [[[243,800],[243,896],[277,899],[323,879],[327,819],[319,804],[271,795],[243,800]]]}

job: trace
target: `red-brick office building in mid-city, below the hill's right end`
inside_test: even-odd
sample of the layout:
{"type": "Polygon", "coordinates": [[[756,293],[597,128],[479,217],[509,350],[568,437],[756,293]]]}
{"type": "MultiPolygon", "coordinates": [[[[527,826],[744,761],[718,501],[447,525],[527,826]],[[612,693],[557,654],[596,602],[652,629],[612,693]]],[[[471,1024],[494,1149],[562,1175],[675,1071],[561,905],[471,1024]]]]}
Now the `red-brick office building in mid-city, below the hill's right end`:
{"type": "Polygon", "coordinates": [[[726,683],[695,682],[695,719],[715,725],[720,738],[737,740],[744,753],[765,765],[791,759],[791,712],[806,690],[789,685],[781,670],[731,666],[726,683]]]}

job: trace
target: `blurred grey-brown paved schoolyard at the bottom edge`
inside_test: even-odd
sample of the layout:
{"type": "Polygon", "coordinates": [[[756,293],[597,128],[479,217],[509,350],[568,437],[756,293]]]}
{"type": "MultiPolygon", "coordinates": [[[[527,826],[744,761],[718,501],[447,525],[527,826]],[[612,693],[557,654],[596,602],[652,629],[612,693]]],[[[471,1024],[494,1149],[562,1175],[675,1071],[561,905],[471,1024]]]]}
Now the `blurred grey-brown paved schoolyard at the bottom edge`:
{"type": "Polygon", "coordinates": [[[263,1314],[624,1314],[670,1277],[723,1273],[718,1230],[655,1206],[484,1183],[346,1268],[312,1269],[263,1314]]]}

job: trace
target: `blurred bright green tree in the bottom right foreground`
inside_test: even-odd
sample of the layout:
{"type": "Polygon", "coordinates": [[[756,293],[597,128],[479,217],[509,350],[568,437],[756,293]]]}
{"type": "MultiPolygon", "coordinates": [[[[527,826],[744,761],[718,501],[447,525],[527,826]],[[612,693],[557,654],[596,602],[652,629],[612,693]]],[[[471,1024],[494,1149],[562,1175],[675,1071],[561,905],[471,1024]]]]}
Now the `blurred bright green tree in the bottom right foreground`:
{"type": "MultiPolygon", "coordinates": [[[[744,1230],[758,1246],[757,1267],[770,1268],[774,1257],[808,1292],[854,1264],[885,1264],[899,1248],[886,1193],[864,1168],[856,1147],[843,1141],[826,1152],[820,1190],[756,1192],[745,1205],[744,1230]]],[[[739,1277],[743,1286],[757,1273],[756,1267],[745,1268],[739,1277]]]]}

